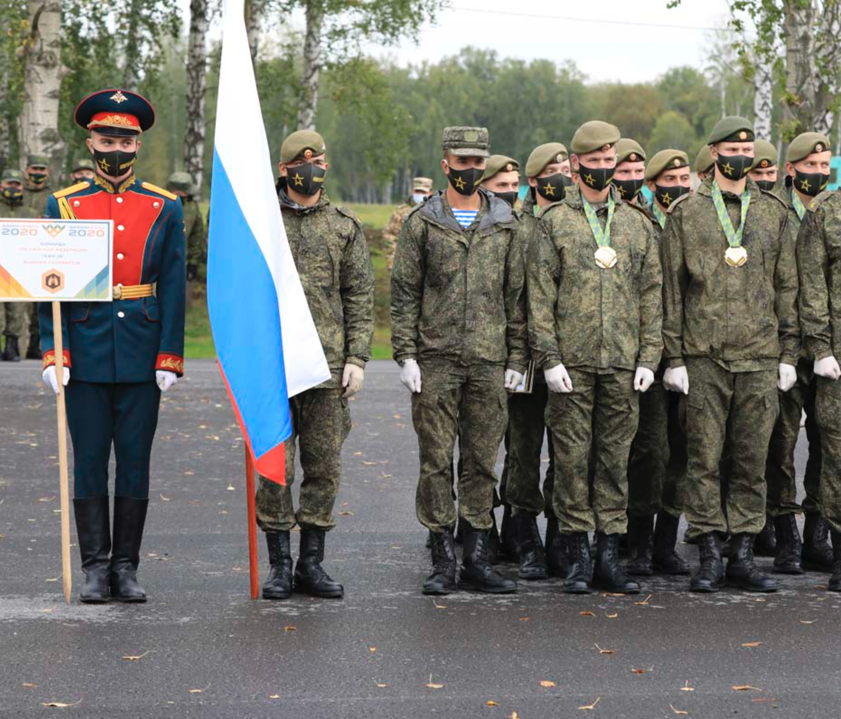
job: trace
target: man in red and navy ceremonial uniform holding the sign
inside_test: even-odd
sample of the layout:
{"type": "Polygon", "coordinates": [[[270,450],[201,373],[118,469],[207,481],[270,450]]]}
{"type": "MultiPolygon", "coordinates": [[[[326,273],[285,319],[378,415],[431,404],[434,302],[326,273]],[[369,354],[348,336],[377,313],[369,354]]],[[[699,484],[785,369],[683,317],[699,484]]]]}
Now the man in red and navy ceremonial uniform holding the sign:
{"type": "MultiPolygon", "coordinates": [[[[76,108],[90,133],[93,182],[52,193],[50,219],[114,220],[113,302],[61,306],[73,508],[86,575],[83,602],[142,602],[137,581],[149,504],[149,464],[161,392],[183,373],[184,231],[181,203],[135,176],[140,135],[155,111],[128,90],[103,90],[76,108]],[[114,530],[108,458],[117,461],[114,530]]],[[[40,305],[44,381],[58,391],[50,303],[40,305]]]]}

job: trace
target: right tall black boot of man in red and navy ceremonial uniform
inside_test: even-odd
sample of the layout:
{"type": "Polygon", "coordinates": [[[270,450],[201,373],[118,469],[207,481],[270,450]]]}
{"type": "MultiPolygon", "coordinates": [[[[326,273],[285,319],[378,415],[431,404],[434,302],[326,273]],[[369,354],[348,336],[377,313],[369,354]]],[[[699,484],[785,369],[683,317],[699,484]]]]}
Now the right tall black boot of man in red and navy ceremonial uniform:
{"type": "Polygon", "coordinates": [[[137,582],[140,542],[149,500],[114,497],[114,539],[111,550],[111,596],[118,601],[140,602],[146,592],[137,582]]]}

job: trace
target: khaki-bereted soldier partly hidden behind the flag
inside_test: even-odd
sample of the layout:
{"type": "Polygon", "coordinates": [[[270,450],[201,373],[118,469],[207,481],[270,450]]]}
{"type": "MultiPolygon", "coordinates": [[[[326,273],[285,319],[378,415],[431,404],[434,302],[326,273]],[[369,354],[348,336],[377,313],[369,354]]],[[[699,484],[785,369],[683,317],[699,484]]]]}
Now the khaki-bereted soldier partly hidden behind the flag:
{"type": "Polygon", "coordinates": [[[340,598],[341,584],[321,566],[325,535],[336,522],[333,505],[341,479],[341,446],[351,431],[348,399],[362,389],[373,338],[373,266],[356,216],[331,204],[324,190],[324,138],[312,130],[292,133],[280,147],[278,200],[289,249],[298,268],[331,378],[289,399],[293,435],[286,442],[286,478],[280,485],[260,478],[257,523],[266,533],[271,571],[265,599],[286,599],[293,589],[340,598]],[[299,508],[292,483],[295,441],[301,468],[299,508]],[[292,572],[289,531],[301,542],[292,572]]]}

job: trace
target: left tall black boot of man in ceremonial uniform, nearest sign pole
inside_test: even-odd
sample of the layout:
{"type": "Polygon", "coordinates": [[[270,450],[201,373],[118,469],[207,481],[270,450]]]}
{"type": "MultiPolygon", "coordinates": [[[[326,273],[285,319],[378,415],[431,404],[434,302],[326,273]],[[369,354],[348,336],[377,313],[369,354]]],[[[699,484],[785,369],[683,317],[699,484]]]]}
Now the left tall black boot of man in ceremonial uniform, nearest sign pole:
{"type": "Polygon", "coordinates": [[[79,600],[85,604],[102,604],[108,601],[108,575],[111,562],[111,522],[108,521],[108,497],[73,500],[76,514],[76,531],[79,536],[79,553],[82,555],[82,572],[85,584],[79,600]]]}

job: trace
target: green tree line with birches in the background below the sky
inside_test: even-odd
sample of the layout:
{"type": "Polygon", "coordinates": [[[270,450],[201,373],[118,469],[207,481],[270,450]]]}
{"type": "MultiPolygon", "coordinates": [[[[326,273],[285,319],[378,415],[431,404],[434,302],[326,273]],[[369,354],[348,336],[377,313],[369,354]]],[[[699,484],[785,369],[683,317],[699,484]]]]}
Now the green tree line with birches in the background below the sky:
{"type": "MultiPolygon", "coordinates": [[[[543,142],[569,143],[592,118],[610,120],[649,153],[678,147],[690,156],[722,114],[748,115],[759,136],[781,147],[803,130],[838,131],[841,0],[731,0],[728,28],[706,38],[705,66],[637,84],[587,82],[574,61],[526,62],[472,47],[408,68],[360,51],[366,41],[416,37],[445,4],[246,0],[275,160],[285,135],[315,127],[328,144],[331,194],[387,203],[407,193],[414,175],[442,186],[447,124],[487,126],[492,151],[521,162],[543,142]],[[290,17],[303,29],[290,29],[290,17]]],[[[186,18],[167,0],[0,0],[8,29],[0,37],[0,167],[45,154],[66,173],[85,151],[72,120],[78,100],[124,87],[158,114],[138,172],[162,183],[183,169],[207,187],[220,63],[207,34],[220,12],[219,0],[191,0],[186,18]]],[[[243,151],[249,142],[242,138],[243,151]]]]}

